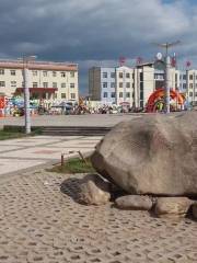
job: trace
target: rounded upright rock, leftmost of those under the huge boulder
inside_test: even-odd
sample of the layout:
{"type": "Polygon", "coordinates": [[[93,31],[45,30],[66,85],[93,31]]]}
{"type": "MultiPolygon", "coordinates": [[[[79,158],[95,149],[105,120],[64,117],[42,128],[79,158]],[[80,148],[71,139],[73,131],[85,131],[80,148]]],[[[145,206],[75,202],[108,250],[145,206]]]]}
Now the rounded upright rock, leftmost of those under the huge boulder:
{"type": "Polygon", "coordinates": [[[79,185],[78,202],[84,205],[104,205],[111,199],[109,184],[101,176],[86,175],[79,185]]]}

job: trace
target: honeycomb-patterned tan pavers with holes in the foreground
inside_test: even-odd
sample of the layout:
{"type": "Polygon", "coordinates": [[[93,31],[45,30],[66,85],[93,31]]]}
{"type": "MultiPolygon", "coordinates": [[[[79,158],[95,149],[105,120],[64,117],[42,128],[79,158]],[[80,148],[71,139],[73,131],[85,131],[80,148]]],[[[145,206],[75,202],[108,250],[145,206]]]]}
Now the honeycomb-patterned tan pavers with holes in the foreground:
{"type": "Polygon", "coordinates": [[[197,222],[77,204],[77,178],[45,170],[0,182],[1,263],[197,262],[197,222]]]}

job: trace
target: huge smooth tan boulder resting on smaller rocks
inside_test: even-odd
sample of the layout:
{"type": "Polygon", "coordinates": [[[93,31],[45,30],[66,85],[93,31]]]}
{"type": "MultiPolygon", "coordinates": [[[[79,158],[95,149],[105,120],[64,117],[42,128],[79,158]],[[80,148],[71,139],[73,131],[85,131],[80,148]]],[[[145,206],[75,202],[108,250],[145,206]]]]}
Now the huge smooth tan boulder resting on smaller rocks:
{"type": "Polygon", "coordinates": [[[119,123],[96,146],[92,163],[130,194],[197,195],[197,113],[119,123]]]}

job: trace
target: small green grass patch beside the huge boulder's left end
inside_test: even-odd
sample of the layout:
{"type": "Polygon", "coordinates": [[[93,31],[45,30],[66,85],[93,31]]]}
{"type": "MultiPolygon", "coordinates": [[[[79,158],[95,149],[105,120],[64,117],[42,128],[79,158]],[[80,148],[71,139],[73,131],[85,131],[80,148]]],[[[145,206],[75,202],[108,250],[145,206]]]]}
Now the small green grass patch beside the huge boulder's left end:
{"type": "Polygon", "coordinates": [[[53,169],[47,170],[49,172],[57,173],[92,173],[95,172],[90,158],[85,159],[85,162],[80,158],[72,158],[66,160],[63,165],[56,165],[53,169]]]}

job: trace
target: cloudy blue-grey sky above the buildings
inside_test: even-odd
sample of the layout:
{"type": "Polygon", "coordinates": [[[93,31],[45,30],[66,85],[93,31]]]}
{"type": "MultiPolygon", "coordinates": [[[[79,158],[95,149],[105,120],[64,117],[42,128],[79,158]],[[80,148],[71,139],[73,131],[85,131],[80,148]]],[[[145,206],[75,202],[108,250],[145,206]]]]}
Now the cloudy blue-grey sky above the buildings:
{"type": "Polygon", "coordinates": [[[0,57],[78,62],[82,94],[89,67],[149,60],[151,43],[176,39],[179,66],[197,67],[196,0],[0,0],[0,57]]]}

